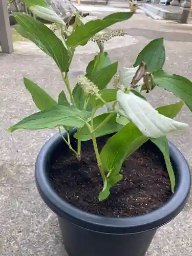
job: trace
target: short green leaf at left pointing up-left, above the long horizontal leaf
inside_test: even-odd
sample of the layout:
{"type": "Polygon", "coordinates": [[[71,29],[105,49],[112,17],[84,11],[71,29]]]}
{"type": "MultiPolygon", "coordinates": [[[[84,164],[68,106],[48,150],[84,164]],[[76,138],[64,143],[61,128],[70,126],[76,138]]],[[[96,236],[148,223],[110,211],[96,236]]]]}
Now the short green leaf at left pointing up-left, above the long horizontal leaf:
{"type": "Polygon", "coordinates": [[[54,105],[57,105],[57,102],[52,99],[49,94],[38,87],[37,84],[30,79],[24,77],[24,84],[26,89],[30,92],[32,99],[39,110],[46,110],[54,105]]]}

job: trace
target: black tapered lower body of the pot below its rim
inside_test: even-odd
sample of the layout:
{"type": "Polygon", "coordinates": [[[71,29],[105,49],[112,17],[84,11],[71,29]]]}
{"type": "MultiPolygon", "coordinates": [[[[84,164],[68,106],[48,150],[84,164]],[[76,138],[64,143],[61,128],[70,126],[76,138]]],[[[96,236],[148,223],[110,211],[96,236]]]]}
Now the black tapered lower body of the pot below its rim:
{"type": "Polygon", "coordinates": [[[156,229],[123,235],[100,233],[58,220],[69,256],[144,256],[156,233],[156,229]]]}

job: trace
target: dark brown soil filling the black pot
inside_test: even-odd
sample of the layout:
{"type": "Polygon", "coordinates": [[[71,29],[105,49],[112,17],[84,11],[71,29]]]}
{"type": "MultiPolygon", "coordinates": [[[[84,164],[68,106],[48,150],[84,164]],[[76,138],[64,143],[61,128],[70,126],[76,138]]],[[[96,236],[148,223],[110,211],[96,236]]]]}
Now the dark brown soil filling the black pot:
{"type": "MultiPolygon", "coordinates": [[[[97,139],[100,149],[105,141],[106,137],[97,139]]],[[[101,216],[138,216],[157,209],[172,195],[162,156],[152,144],[145,143],[123,164],[124,179],[112,187],[110,197],[99,202],[103,184],[92,142],[83,142],[81,148],[81,162],[65,152],[50,172],[54,189],[73,206],[101,216]]]]}

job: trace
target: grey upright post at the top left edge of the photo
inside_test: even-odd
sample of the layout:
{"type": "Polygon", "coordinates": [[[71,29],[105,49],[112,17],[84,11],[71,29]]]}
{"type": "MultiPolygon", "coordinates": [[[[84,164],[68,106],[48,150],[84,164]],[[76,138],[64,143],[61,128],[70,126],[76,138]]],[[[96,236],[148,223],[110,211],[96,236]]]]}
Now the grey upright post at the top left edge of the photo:
{"type": "Polygon", "coordinates": [[[13,51],[7,0],[0,0],[0,42],[3,53],[11,53],[13,51]]]}

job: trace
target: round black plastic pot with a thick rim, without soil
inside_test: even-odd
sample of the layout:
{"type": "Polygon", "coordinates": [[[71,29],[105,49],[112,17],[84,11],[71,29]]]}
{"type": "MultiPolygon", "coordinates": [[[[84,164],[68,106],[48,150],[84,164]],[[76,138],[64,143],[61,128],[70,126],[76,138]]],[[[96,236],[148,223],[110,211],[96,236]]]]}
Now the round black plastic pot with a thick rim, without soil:
{"type": "MultiPolygon", "coordinates": [[[[72,141],[76,143],[73,137],[72,141]]],[[[35,179],[40,196],[58,216],[69,256],[144,256],[157,228],[175,218],[189,196],[190,171],[177,147],[169,143],[176,176],[174,195],[157,210],[128,218],[105,218],[89,214],[57,195],[48,173],[55,156],[60,151],[67,150],[69,149],[59,134],[51,138],[37,157],[35,179]]]]}

